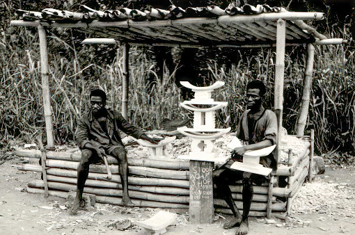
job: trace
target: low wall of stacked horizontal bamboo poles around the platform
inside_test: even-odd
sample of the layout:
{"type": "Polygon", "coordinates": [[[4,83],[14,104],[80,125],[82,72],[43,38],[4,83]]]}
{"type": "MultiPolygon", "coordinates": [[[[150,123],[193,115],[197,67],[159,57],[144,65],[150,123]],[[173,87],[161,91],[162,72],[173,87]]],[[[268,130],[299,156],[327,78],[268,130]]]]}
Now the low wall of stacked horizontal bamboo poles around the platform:
{"type": "MultiPolygon", "coordinates": [[[[284,212],[290,207],[292,199],[301,188],[308,175],[310,164],[310,145],[306,153],[298,159],[293,159],[289,166],[279,165],[276,176],[288,177],[288,187],[272,188],[273,212],[284,212]],[[276,201],[277,197],[287,198],[286,202],[276,201]]],[[[28,158],[41,158],[41,152],[33,149],[19,149],[17,156],[28,158]]],[[[68,192],[76,191],[77,165],[81,158],[79,152],[52,152],[46,153],[46,175],[49,195],[67,197],[68,192]]],[[[122,198],[122,185],[118,175],[118,162],[108,158],[112,179],[107,179],[105,165],[90,165],[90,173],[84,193],[96,195],[96,202],[120,205],[122,198]]],[[[189,208],[189,161],[171,159],[136,159],[128,158],[129,164],[129,195],[136,206],[148,206],[172,209],[189,208]]],[[[42,172],[40,165],[24,164],[19,170],[42,172]]],[[[274,177],[276,180],[277,177],[274,177]]],[[[276,182],[275,182],[276,183],[276,182]]],[[[275,184],[274,184],[275,185],[275,184]]],[[[277,184],[276,184],[277,185],[277,184]]],[[[29,193],[45,193],[45,181],[35,180],[28,184],[29,193]]],[[[242,209],[242,185],[230,186],[232,197],[238,209],[242,209]]],[[[269,187],[255,186],[251,216],[265,216],[267,211],[269,187]]],[[[285,201],[285,200],[283,200],[285,201]]],[[[214,199],[214,208],[219,213],[231,213],[224,200],[214,199]]]]}

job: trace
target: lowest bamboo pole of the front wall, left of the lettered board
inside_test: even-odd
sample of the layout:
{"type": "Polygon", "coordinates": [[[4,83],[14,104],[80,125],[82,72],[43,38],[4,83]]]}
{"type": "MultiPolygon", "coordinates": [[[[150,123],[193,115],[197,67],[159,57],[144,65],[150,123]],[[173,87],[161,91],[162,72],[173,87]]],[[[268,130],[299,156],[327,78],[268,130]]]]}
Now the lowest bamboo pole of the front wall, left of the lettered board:
{"type": "MultiPolygon", "coordinates": [[[[43,193],[43,189],[40,188],[26,188],[26,191],[29,193],[43,193]]],[[[68,192],[63,192],[63,191],[55,191],[55,190],[50,190],[49,195],[55,196],[55,197],[63,197],[67,198],[68,192]]],[[[109,197],[109,196],[96,196],[96,202],[98,203],[109,203],[109,204],[115,204],[115,205],[120,205],[121,204],[121,197],[109,197]]],[[[132,202],[134,206],[140,206],[140,207],[157,207],[157,208],[172,208],[172,209],[187,209],[189,206],[186,204],[178,204],[178,203],[167,203],[167,202],[152,202],[152,201],[145,201],[145,200],[134,200],[132,199],[132,202]]]]}

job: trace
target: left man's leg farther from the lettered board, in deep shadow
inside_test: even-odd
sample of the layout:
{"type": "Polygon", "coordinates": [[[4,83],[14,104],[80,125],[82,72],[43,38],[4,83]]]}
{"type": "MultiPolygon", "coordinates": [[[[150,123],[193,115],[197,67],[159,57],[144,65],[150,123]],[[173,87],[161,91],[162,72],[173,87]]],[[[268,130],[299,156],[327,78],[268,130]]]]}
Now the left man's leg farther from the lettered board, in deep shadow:
{"type": "Polygon", "coordinates": [[[77,214],[80,204],[83,200],[83,192],[86,179],[88,179],[88,170],[90,165],[90,158],[93,156],[93,152],[89,149],[84,149],[81,151],[81,159],[78,165],[78,179],[77,179],[77,195],[75,196],[74,203],[72,205],[72,210],[70,213],[72,215],[77,214]]]}

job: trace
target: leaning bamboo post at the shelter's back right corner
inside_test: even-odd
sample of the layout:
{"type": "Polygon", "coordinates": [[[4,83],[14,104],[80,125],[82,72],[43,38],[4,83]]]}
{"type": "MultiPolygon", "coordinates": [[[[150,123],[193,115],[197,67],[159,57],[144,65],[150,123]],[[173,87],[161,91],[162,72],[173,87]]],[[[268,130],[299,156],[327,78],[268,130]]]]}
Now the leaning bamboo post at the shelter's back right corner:
{"type": "Polygon", "coordinates": [[[313,63],[315,58],[315,47],[313,44],[307,45],[307,61],[306,72],[303,80],[303,94],[301,108],[299,109],[299,117],[297,120],[296,134],[303,136],[308,117],[308,107],[310,104],[310,89],[312,87],[313,63]]]}

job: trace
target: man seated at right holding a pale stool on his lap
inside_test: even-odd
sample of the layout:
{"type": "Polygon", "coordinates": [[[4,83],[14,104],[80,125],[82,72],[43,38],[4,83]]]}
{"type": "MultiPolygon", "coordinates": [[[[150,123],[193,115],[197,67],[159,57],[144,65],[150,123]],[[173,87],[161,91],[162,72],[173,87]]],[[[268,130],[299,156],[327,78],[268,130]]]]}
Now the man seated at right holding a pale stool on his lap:
{"type": "MultiPolygon", "coordinates": [[[[232,151],[232,159],[213,172],[216,194],[226,200],[234,214],[234,218],[223,225],[223,228],[231,229],[239,226],[236,234],[248,233],[248,213],[251,199],[253,198],[252,184],[262,184],[269,179],[269,176],[264,177],[230,168],[235,161],[241,161],[246,151],[262,149],[276,144],[276,115],[273,111],[265,110],[264,106],[262,106],[265,91],[266,88],[262,81],[251,81],[246,86],[247,110],[242,114],[237,127],[237,138],[246,143],[246,145],[235,148],[232,151]],[[239,213],[228,186],[233,181],[241,179],[243,181],[243,215],[239,213]]],[[[276,168],[276,161],[272,154],[261,157],[260,164],[265,167],[276,168]]]]}

